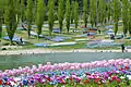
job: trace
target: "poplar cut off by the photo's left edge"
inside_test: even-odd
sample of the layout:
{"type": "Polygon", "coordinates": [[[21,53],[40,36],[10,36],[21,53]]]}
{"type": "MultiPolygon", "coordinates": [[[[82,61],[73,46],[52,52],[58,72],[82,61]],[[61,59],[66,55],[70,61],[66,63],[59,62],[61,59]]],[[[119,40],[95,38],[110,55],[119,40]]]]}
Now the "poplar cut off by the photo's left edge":
{"type": "Polygon", "coordinates": [[[4,10],[4,2],[0,0],[0,38],[2,37],[2,21],[3,21],[3,10],[4,10]]]}

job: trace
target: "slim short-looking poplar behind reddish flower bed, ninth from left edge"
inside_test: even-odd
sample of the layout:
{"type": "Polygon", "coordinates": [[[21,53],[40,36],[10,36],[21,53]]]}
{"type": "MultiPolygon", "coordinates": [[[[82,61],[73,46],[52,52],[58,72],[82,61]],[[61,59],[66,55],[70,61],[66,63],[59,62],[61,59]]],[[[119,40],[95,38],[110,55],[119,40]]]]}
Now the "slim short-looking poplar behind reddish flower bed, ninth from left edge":
{"type": "Polygon", "coordinates": [[[87,27],[87,0],[83,0],[83,20],[84,20],[84,25],[87,27]]]}

